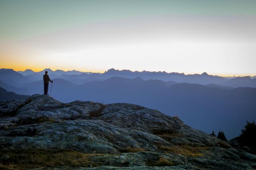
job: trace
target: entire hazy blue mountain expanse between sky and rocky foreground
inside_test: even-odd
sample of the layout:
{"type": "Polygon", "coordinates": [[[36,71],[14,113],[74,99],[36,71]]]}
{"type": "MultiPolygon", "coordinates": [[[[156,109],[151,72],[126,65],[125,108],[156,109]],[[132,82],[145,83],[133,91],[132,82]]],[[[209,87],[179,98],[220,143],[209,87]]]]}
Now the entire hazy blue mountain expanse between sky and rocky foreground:
{"type": "MultiPolygon", "coordinates": [[[[246,121],[256,120],[256,88],[253,88],[256,79],[251,77],[230,79],[207,73],[184,75],[115,69],[103,74],[49,76],[54,80],[51,96],[61,102],[143,105],[178,116],[207,133],[224,131],[228,138],[238,136],[246,121]]],[[[43,93],[42,74],[24,76],[12,69],[1,69],[0,78],[0,87],[7,91],[22,95],[43,93]]],[[[50,89],[51,83],[49,93],[50,89]]]]}

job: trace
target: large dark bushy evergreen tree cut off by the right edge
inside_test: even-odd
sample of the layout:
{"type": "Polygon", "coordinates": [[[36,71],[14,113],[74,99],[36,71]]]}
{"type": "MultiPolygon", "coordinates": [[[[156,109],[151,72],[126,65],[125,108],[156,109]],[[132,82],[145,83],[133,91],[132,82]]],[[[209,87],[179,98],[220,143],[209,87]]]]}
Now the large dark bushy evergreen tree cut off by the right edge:
{"type": "Polygon", "coordinates": [[[242,134],[239,136],[239,142],[242,145],[255,148],[256,144],[256,124],[253,121],[252,123],[247,122],[247,125],[242,129],[242,134]]]}

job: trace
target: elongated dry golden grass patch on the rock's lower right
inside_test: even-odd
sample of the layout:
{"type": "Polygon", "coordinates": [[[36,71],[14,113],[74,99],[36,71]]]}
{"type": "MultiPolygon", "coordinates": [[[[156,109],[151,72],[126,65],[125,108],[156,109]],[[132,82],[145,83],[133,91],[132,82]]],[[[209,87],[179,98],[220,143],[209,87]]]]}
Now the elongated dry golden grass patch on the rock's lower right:
{"type": "Polygon", "coordinates": [[[175,146],[175,147],[169,147],[169,146],[160,146],[160,150],[163,150],[165,153],[174,153],[174,154],[181,154],[184,156],[190,156],[190,157],[198,157],[203,156],[204,154],[200,153],[200,150],[208,150],[209,147],[193,147],[189,145],[182,145],[182,146],[175,146]]]}

